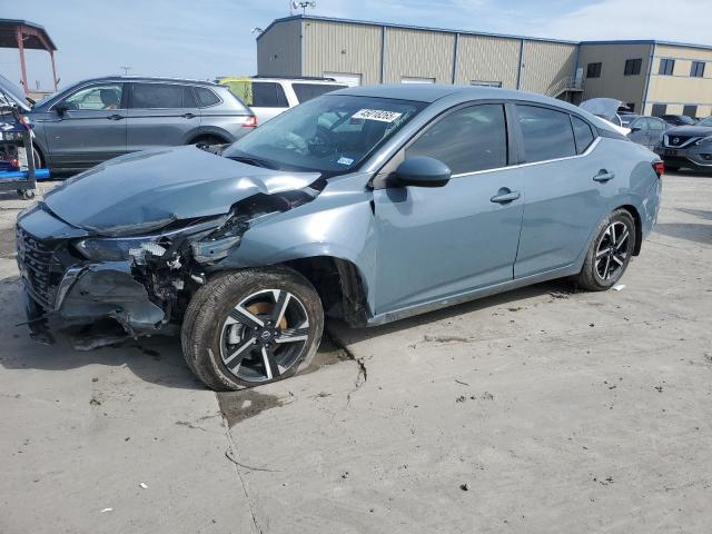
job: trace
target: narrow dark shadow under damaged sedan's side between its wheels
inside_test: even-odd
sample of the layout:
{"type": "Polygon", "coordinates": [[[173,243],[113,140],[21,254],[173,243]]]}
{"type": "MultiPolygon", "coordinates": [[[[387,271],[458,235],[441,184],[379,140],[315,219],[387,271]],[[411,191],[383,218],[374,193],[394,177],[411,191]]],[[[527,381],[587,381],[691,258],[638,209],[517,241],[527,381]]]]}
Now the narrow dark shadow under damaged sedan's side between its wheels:
{"type": "Polygon", "coordinates": [[[583,290],[580,289],[571,279],[560,278],[556,280],[543,281],[541,284],[522,287],[520,289],[513,289],[511,291],[501,293],[490,297],[478,298],[476,300],[449,306],[435,312],[428,312],[426,314],[416,315],[414,317],[396,320],[386,325],[352,328],[342,320],[329,319],[326,326],[327,332],[332,334],[332,337],[338,338],[343,343],[345,342],[350,344],[449,319],[458,315],[469,314],[481,309],[516,304],[520,300],[541,297],[547,294],[551,295],[552,298],[568,298],[571,295],[582,291],[583,290]]]}

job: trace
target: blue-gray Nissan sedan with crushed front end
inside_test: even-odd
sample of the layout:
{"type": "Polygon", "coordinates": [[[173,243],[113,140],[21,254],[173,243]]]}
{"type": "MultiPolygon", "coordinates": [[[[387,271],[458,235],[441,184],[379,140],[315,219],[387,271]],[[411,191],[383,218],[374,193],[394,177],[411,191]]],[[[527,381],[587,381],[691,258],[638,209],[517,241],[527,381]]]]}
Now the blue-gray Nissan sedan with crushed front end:
{"type": "Polygon", "coordinates": [[[22,212],[28,324],[180,334],[207,386],[250,387],[308,366],[325,315],[378,325],[565,276],[607,289],[662,170],[546,97],[336,91],[227,147],[107,161],[22,212]]]}

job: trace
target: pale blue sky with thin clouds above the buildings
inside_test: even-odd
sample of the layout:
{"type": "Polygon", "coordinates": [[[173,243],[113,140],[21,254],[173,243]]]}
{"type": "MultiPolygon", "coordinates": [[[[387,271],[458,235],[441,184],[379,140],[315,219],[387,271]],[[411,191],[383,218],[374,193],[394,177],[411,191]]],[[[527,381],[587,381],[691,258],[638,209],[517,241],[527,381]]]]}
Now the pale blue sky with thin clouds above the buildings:
{"type": "MultiPolygon", "coordinates": [[[[712,44],[710,0],[316,0],[309,12],[572,40],[663,39],[712,44]],[[676,22],[674,22],[676,21],[676,22]]],[[[0,0],[3,18],[42,24],[60,85],[121,73],[207,79],[256,71],[254,27],[289,14],[287,0],[0,0]]],[[[50,87],[49,56],[28,52],[28,81],[50,87]]],[[[0,73],[20,79],[17,50],[0,73]]]]}

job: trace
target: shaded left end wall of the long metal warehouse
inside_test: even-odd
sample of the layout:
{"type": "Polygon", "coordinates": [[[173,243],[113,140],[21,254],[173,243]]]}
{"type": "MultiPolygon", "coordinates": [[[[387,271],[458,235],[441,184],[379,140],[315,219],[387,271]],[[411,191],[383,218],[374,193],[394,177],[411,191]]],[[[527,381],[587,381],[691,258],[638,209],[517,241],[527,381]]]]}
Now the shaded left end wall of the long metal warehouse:
{"type": "Polygon", "coordinates": [[[260,76],[301,76],[300,34],[301,21],[286,20],[259,36],[257,72],[260,76]]]}

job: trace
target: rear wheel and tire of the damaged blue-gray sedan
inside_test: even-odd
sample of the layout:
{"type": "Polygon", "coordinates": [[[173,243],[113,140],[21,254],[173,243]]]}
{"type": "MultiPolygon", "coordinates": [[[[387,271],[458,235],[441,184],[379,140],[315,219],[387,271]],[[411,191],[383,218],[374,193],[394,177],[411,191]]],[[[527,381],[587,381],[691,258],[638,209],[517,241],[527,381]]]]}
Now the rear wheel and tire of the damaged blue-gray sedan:
{"type": "Polygon", "coordinates": [[[577,283],[590,291],[604,291],[625,273],[635,250],[635,221],[625,209],[616,209],[599,225],[577,283]]]}

